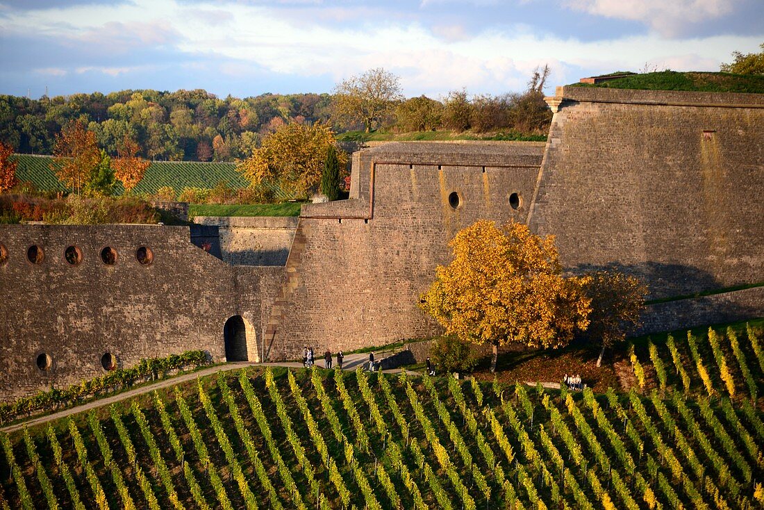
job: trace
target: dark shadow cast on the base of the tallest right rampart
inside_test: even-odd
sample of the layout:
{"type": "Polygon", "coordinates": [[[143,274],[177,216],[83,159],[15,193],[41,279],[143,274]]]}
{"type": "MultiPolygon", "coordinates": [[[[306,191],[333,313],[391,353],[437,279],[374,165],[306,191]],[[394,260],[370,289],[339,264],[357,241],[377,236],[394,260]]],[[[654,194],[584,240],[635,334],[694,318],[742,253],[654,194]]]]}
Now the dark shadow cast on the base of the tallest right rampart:
{"type": "Polygon", "coordinates": [[[605,265],[580,264],[568,271],[573,274],[584,274],[613,270],[636,276],[647,284],[649,292],[647,300],[686,296],[702,291],[713,291],[722,287],[711,273],[681,264],[662,264],[659,262],[620,264],[619,262],[610,262],[605,265]]]}

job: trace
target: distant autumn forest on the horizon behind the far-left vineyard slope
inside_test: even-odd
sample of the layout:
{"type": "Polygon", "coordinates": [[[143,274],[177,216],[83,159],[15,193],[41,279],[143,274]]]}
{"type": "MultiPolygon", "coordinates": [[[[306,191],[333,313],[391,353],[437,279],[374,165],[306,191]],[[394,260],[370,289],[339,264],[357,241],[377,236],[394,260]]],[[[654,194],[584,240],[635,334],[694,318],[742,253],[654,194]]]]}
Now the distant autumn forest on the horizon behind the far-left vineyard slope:
{"type": "Polygon", "coordinates": [[[73,94],[40,99],[0,96],[0,141],[24,154],[52,154],[55,135],[74,120],[117,154],[125,135],[153,160],[233,161],[286,122],[326,122],[329,94],[263,94],[219,99],[202,89],[73,94]]]}

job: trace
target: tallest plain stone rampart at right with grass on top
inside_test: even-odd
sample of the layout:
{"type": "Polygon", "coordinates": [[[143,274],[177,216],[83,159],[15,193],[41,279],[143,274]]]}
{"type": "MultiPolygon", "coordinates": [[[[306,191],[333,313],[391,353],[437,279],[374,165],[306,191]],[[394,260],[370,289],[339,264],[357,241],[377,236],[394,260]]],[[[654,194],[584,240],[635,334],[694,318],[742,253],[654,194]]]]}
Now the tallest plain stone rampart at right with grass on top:
{"type": "Polygon", "coordinates": [[[561,87],[528,214],[566,268],[650,297],[764,278],[764,95],[561,87]]]}

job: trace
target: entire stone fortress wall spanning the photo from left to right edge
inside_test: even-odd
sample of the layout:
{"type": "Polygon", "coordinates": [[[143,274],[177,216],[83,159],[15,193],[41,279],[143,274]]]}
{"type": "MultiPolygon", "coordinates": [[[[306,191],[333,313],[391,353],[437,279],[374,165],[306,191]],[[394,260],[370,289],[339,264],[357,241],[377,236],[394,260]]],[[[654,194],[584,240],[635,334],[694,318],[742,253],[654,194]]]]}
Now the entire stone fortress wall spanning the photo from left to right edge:
{"type": "MultiPolygon", "coordinates": [[[[0,226],[0,396],[99,375],[106,352],[125,366],[189,349],[273,360],[430,336],[419,294],[478,219],[555,234],[566,269],[639,274],[651,298],[764,281],[764,97],[564,87],[548,100],[545,144],[360,151],[350,200],[299,219],[0,226]],[[64,260],[70,245],[79,265],[64,260]]],[[[652,305],[644,330],[762,315],[759,287],[652,305]]]]}

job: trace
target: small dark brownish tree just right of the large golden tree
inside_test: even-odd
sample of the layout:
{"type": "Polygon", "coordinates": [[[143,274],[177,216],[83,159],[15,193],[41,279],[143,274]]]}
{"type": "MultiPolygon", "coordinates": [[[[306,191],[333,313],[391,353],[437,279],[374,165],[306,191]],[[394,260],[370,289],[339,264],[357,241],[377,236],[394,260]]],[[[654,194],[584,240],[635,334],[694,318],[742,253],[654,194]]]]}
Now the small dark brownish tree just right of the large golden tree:
{"type": "Polygon", "coordinates": [[[597,358],[600,366],[605,349],[626,340],[639,326],[647,287],[639,278],[620,271],[596,271],[588,276],[584,295],[591,299],[591,313],[586,336],[602,345],[597,358]]]}

